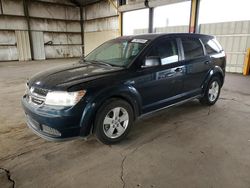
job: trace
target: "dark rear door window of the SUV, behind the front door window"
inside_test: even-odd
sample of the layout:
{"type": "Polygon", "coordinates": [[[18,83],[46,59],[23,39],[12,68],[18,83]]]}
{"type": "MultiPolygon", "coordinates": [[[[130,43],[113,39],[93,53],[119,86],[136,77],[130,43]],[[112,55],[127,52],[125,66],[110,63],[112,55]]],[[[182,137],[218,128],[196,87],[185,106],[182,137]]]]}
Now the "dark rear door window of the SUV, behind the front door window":
{"type": "Polygon", "coordinates": [[[199,39],[182,38],[185,59],[195,59],[204,55],[203,48],[199,39]]]}

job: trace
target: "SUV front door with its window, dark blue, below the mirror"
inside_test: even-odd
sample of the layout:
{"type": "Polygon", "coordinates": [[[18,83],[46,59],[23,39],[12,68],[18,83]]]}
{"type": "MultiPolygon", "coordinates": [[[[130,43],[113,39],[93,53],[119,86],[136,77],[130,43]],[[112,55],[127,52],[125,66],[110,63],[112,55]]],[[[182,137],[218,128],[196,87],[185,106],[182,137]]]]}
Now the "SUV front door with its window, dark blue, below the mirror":
{"type": "Polygon", "coordinates": [[[180,55],[175,39],[166,38],[155,42],[146,53],[145,59],[147,57],[159,57],[161,65],[141,67],[137,71],[135,87],[142,98],[143,113],[178,100],[185,72],[183,64],[179,62],[180,55]]]}

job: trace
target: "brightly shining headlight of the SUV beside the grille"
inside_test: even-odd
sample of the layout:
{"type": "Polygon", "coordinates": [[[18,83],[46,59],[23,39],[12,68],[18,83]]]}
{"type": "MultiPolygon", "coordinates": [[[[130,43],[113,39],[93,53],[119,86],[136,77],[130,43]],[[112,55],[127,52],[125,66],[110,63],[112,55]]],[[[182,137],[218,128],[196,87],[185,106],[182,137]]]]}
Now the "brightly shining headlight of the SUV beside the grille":
{"type": "Polygon", "coordinates": [[[54,106],[74,106],[86,94],[85,90],[76,92],[51,91],[45,98],[45,104],[54,106]]]}

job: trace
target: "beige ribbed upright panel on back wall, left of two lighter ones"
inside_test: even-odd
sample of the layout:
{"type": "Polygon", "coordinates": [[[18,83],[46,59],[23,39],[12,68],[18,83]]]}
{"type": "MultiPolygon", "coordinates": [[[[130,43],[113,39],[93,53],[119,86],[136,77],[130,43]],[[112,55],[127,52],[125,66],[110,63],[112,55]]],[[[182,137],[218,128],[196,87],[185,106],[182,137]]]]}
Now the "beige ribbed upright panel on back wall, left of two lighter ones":
{"type": "Polygon", "coordinates": [[[31,60],[28,31],[16,31],[19,61],[31,60]]]}

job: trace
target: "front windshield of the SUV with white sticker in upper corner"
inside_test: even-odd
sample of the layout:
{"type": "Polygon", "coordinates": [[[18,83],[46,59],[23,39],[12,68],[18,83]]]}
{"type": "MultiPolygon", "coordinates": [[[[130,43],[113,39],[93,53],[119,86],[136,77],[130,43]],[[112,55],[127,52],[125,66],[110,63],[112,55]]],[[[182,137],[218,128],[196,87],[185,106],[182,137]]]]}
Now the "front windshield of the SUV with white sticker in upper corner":
{"type": "Polygon", "coordinates": [[[93,50],[84,60],[124,67],[130,64],[146,43],[144,39],[114,39],[93,50]]]}

